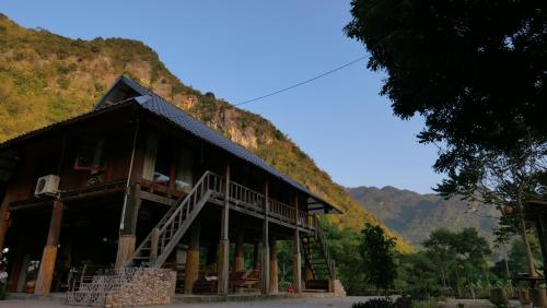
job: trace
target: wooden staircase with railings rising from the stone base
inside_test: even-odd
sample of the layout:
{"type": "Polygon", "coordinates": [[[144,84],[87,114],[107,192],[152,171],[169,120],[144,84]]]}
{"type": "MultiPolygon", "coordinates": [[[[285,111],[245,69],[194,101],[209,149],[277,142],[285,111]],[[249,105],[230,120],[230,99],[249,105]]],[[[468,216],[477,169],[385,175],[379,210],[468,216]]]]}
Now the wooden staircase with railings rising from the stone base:
{"type": "Polygon", "coordinates": [[[222,183],[219,175],[206,171],[191,191],[165,213],[124,265],[162,266],[209,198],[222,193],[222,183]]]}

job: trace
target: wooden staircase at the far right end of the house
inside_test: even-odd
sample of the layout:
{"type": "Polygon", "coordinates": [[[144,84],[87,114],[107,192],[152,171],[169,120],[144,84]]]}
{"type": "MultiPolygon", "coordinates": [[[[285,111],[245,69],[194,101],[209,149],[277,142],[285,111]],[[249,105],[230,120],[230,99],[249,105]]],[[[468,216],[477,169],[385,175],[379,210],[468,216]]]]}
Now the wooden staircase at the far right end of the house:
{"type": "Polygon", "coordinates": [[[315,217],[315,235],[301,238],[306,264],[314,281],[336,280],[335,261],[330,257],[325,235],[315,217]]]}

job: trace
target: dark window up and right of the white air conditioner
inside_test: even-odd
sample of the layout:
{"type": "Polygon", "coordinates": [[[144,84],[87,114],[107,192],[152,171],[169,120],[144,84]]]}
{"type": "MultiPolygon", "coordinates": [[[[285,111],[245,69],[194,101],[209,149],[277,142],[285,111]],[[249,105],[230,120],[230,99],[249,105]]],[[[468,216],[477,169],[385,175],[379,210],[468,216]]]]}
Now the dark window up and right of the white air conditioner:
{"type": "Polygon", "coordinates": [[[100,138],[84,138],[81,140],[75,155],[74,169],[104,170],[104,140],[100,138]]]}

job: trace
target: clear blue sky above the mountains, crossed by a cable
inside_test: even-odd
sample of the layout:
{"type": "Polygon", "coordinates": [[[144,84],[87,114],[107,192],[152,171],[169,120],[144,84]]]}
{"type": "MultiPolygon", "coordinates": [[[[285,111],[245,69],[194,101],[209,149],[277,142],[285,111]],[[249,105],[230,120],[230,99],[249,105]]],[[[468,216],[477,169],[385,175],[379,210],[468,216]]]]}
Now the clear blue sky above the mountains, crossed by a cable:
{"type": "MultiPolygon", "coordinates": [[[[79,38],[125,37],[151,46],[184,83],[233,104],[365,55],[342,33],[349,0],[22,1],[0,12],[25,27],[79,38]]],[[[430,192],[434,146],[418,144],[420,118],[403,121],[380,96],[366,61],[245,109],[271,120],[344,186],[430,192]]]]}

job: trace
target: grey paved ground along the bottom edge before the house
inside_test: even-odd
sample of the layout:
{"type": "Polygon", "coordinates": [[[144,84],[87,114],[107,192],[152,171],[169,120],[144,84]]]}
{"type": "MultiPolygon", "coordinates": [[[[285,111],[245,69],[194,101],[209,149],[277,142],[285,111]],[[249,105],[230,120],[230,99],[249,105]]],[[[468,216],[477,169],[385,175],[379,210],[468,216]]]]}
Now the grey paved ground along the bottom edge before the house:
{"type": "MultiPolygon", "coordinates": [[[[229,301],[229,303],[209,303],[209,304],[172,304],[170,306],[140,306],[140,307],[184,307],[184,308],[249,308],[249,307],[265,307],[265,308],[349,308],[356,301],[364,301],[371,297],[327,297],[327,298],[287,298],[287,299],[272,299],[272,300],[257,300],[257,301],[229,301]]],[[[28,307],[43,307],[43,308],[68,308],[81,306],[67,306],[53,300],[33,300],[33,299],[11,299],[0,301],[0,307],[5,308],[28,308],[28,307]]]]}

